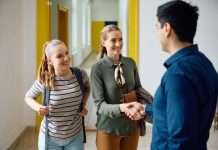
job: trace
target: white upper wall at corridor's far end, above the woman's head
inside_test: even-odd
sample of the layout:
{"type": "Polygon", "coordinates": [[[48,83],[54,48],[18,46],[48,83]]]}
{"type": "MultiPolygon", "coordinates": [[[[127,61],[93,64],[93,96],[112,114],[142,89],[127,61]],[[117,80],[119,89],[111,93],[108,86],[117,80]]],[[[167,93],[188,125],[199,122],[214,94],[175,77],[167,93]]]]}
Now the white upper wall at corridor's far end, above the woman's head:
{"type": "Polygon", "coordinates": [[[119,0],[92,0],[92,21],[118,21],[119,0]]]}

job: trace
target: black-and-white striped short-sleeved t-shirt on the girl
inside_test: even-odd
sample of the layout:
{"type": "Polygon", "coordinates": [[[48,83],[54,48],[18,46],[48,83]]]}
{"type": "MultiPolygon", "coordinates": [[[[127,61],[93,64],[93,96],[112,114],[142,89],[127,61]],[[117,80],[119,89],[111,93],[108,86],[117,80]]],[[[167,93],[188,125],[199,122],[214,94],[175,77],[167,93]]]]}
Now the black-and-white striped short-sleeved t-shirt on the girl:
{"type": "MultiPolygon", "coordinates": [[[[87,74],[81,70],[84,87],[89,88],[87,74]]],[[[26,96],[35,99],[44,92],[44,86],[36,80],[27,91],[26,96]]],[[[49,136],[58,139],[67,139],[77,135],[82,129],[82,117],[79,115],[82,101],[82,91],[75,75],[72,79],[65,80],[63,77],[55,77],[55,87],[50,90],[48,115],[49,136]]],[[[41,132],[45,132],[45,118],[41,123],[41,132]]]]}

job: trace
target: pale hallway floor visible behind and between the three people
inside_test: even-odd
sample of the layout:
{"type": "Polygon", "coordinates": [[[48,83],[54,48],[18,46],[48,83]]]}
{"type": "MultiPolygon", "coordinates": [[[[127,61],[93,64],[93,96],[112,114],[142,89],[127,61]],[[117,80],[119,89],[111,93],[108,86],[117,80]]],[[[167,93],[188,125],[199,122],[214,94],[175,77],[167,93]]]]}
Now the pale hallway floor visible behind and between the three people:
{"type": "MultiPolygon", "coordinates": [[[[97,55],[92,53],[86,59],[86,61],[81,65],[81,68],[86,70],[88,75],[90,75],[91,66],[96,62],[97,55]]],[[[95,145],[95,122],[96,122],[96,109],[92,100],[92,97],[88,101],[88,115],[86,116],[86,128],[87,128],[87,143],[85,144],[85,150],[96,150],[95,145]]],[[[140,137],[138,150],[149,150],[151,142],[152,125],[147,124],[146,135],[140,137]]],[[[208,141],[208,150],[217,150],[218,147],[218,130],[214,131],[211,128],[210,138],[208,141]]],[[[37,150],[37,133],[33,127],[27,128],[23,135],[21,135],[20,140],[14,148],[9,150],[37,150]]]]}

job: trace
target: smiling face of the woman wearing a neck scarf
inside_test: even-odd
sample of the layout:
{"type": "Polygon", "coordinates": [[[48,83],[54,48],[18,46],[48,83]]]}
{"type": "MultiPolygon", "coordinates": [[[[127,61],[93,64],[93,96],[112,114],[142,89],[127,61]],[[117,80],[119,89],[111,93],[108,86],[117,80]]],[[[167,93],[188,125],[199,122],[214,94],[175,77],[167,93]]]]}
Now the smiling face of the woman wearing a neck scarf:
{"type": "Polygon", "coordinates": [[[113,59],[119,59],[121,48],[123,46],[122,34],[120,31],[111,31],[106,33],[106,40],[102,45],[107,50],[107,55],[113,59]]]}

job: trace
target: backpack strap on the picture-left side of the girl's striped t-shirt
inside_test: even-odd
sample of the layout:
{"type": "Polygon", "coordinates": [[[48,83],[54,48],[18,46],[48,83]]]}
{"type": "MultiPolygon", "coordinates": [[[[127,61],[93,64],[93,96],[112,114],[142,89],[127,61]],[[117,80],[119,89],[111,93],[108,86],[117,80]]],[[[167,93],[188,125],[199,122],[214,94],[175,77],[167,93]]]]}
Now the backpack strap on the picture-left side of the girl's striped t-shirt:
{"type": "MultiPolygon", "coordinates": [[[[43,105],[49,105],[49,98],[50,98],[50,90],[46,87],[44,89],[44,96],[43,96],[43,105]]],[[[45,116],[45,150],[48,149],[48,117],[45,116]]]]}

